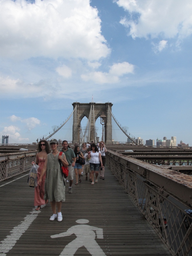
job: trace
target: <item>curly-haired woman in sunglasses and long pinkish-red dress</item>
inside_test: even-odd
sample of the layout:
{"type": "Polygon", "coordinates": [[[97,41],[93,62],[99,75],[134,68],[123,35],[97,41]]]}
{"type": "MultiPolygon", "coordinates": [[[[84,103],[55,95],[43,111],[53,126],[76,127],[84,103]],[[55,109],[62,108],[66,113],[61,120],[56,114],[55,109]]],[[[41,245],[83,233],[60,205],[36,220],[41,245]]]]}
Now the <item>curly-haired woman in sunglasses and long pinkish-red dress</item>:
{"type": "MultiPolygon", "coordinates": [[[[41,175],[41,170],[43,169],[43,166],[45,164],[45,158],[47,154],[49,154],[51,151],[50,151],[49,143],[46,140],[40,140],[37,148],[39,151],[36,155],[36,164],[39,165],[38,173],[37,173],[37,181],[38,181],[41,175]]],[[[32,161],[32,164],[35,164],[35,162],[32,161]]],[[[48,203],[48,200],[43,199],[45,194],[45,188],[44,188],[45,178],[46,178],[46,174],[44,174],[41,184],[35,187],[34,206],[37,206],[35,209],[37,211],[40,210],[41,205],[48,203]]]]}

